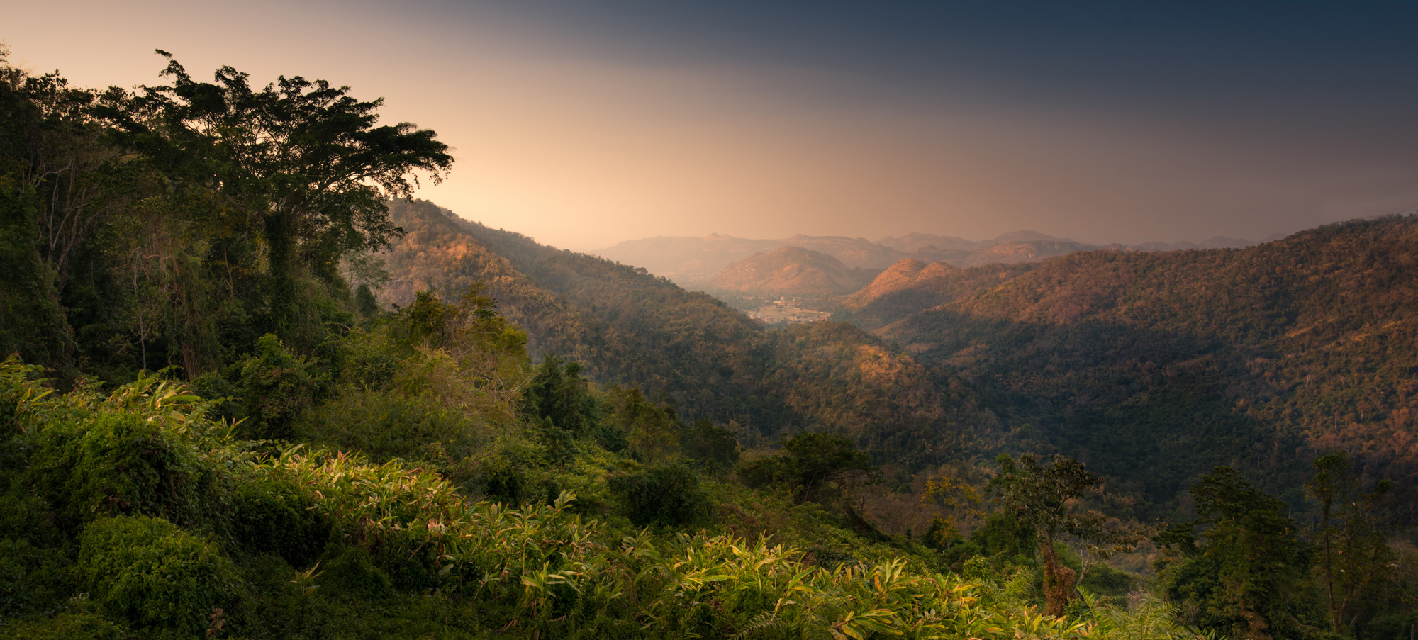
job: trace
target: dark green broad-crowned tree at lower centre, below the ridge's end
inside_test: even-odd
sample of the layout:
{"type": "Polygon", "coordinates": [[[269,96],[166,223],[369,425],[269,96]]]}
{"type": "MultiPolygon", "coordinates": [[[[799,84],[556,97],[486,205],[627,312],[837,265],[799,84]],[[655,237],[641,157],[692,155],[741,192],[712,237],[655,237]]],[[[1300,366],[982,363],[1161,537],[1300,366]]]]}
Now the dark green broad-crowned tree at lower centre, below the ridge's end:
{"type": "Polygon", "coordinates": [[[871,456],[837,433],[797,433],[786,438],[783,452],[761,457],[740,469],[750,486],[786,483],[798,501],[830,504],[854,487],[881,481],[871,456]]]}

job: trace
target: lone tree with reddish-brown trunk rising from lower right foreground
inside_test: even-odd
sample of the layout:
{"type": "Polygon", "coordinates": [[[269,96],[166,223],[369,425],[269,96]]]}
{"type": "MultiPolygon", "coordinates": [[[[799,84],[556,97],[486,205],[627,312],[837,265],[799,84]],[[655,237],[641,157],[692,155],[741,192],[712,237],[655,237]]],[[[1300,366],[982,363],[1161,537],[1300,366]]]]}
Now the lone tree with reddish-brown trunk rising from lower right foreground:
{"type": "Polygon", "coordinates": [[[1062,616],[1079,576],[1059,562],[1056,544],[1072,537],[1102,555],[1119,551],[1136,535],[1110,531],[1098,511],[1079,513],[1075,508],[1085,493],[1103,484],[1103,477],[1089,472],[1083,463],[1056,453],[1048,464],[1034,453],[1025,453],[1018,460],[1000,456],[995,463],[1000,464],[1000,474],[990,480],[995,503],[1034,528],[1039,555],[1044,556],[1046,610],[1051,616],[1062,616]]]}

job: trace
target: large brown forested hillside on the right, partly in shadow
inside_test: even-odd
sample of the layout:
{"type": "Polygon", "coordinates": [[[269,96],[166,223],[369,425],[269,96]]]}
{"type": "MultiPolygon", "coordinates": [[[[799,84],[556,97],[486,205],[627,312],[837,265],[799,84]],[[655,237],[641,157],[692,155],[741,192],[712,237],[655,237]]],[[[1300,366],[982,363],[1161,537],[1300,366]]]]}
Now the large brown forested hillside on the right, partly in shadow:
{"type": "Polygon", "coordinates": [[[1408,215],[1248,249],[1073,253],[968,297],[895,293],[925,300],[915,313],[889,296],[864,309],[1154,501],[1239,464],[1299,504],[1316,452],[1418,483],[1415,263],[1408,215]]]}

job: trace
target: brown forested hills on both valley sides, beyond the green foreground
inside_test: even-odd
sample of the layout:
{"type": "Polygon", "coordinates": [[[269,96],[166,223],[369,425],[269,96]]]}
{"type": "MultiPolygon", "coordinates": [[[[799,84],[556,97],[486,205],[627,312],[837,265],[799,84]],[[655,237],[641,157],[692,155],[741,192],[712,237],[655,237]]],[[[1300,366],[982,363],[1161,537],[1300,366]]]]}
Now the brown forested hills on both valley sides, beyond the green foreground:
{"type": "MultiPolygon", "coordinates": [[[[539,245],[428,202],[393,211],[408,234],[389,255],[387,302],[485,282],[533,350],[736,425],[746,442],[834,430],[902,469],[1058,450],[1153,514],[1215,464],[1297,503],[1309,462],[1334,449],[1418,486],[1414,217],[1241,249],[1088,249],[963,268],[902,258],[845,299],[839,321],[767,328],[644,266],[539,245]]],[[[761,252],[764,268],[810,261],[837,290],[859,269],[828,251],[692,241],[683,245],[761,252]]],[[[876,246],[949,244],[893,242],[900,249],[876,246]]]]}

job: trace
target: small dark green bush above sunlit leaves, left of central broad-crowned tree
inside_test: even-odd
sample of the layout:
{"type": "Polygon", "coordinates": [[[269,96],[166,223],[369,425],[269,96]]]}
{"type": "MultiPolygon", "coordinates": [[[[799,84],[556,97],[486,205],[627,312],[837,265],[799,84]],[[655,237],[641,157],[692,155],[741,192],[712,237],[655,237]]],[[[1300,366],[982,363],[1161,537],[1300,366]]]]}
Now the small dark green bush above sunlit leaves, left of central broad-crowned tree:
{"type": "Polygon", "coordinates": [[[618,473],[611,476],[610,487],[623,497],[637,525],[685,527],[709,515],[699,476],[683,464],[618,473]]]}

